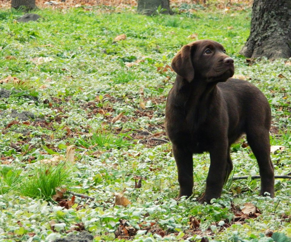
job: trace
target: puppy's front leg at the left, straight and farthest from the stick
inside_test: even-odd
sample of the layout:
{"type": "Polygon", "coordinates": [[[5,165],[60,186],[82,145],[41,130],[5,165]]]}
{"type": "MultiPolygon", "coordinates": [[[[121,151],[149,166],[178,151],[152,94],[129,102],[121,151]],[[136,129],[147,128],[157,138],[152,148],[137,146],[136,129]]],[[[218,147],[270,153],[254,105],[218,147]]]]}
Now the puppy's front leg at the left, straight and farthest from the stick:
{"type": "Polygon", "coordinates": [[[172,146],[178,169],[178,181],[180,184],[179,199],[182,196],[190,197],[193,191],[193,156],[192,152],[182,145],[172,146]]]}

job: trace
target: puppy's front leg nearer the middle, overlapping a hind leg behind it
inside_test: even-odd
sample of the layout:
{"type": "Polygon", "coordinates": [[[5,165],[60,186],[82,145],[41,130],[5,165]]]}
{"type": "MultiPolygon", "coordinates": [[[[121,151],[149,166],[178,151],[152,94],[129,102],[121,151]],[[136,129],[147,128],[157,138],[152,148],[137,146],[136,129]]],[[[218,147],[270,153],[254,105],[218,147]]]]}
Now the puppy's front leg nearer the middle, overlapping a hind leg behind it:
{"type": "Polygon", "coordinates": [[[206,179],[206,190],[202,198],[199,199],[200,203],[210,203],[212,198],[219,198],[222,192],[224,179],[226,177],[227,166],[227,144],[216,144],[209,151],[210,154],[210,167],[206,179]]]}

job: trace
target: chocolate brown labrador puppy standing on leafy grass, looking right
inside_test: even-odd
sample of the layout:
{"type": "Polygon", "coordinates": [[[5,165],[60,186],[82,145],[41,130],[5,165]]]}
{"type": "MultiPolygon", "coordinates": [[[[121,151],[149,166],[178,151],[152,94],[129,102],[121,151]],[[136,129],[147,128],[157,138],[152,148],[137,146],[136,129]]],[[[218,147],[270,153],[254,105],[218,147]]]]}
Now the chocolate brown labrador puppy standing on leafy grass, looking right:
{"type": "Polygon", "coordinates": [[[243,133],[259,164],[260,195],[274,197],[269,103],[251,83],[230,78],[233,59],[225,53],[216,41],[198,40],[184,45],[172,60],[177,77],[167,98],[166,130],[178,169],[178,198],[192,195],[192,155],[205,151],[210,168],[199,202],[219,198],[232,171],[230,146],[243,133]]]}

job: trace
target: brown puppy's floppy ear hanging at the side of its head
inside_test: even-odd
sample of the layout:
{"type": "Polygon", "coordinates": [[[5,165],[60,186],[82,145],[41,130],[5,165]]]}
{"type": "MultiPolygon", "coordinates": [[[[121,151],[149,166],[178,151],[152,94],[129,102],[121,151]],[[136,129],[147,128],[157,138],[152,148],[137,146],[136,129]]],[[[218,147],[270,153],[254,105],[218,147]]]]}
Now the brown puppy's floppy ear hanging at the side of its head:
{"type": "Polygon", "coordinates": [[[186,44],[181,50],[176,54],[176,56],[172,60],[172,68],[173,70],[184,77],[187,81],[191,82],[194,78],[194,67],[192,64],[192,52],[194,45],[186,44]]]}

